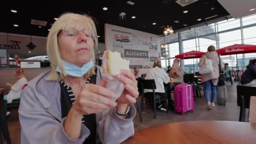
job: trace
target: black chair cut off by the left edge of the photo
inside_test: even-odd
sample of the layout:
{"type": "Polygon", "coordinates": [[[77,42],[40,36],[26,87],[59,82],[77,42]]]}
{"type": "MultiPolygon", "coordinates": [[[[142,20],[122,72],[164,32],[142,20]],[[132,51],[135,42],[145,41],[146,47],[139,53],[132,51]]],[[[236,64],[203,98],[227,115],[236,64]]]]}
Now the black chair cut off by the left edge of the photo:
{"type": "Polygon", "coordinates": [[[2,135],[6,143],[11,144],[3,97],[4,93],[0,93],[0,144],[3,144],[2,135]]]}

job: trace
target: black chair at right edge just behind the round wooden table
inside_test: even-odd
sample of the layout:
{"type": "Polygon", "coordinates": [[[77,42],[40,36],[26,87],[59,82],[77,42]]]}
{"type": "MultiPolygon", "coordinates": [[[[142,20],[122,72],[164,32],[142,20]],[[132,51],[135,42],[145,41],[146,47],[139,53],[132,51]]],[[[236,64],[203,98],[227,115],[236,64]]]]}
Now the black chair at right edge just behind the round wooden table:
{"type": "Polygon", "coordinates": [[[237,105],[240,106],[240,122],[245,122],[245,109],[250,107],[251,96],[256,96],[256,87],[237,85],[237,105]]]}

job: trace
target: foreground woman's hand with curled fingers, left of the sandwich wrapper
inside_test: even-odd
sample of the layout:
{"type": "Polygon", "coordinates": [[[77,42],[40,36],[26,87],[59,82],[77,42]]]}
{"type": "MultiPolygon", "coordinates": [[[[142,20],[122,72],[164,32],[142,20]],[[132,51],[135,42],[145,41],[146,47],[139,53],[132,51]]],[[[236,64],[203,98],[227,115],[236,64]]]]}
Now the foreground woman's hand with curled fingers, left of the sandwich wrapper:
{"type": "Polygon", "coordinates": [[[115,93],[104,88],[106,84],[105,80],[101,80],[98,85],[85,84],[81,93],[76,96],[72,109],[78,115],[89,115],[99,113],[110,107],[116,107],[113,100],[115,93]]]}

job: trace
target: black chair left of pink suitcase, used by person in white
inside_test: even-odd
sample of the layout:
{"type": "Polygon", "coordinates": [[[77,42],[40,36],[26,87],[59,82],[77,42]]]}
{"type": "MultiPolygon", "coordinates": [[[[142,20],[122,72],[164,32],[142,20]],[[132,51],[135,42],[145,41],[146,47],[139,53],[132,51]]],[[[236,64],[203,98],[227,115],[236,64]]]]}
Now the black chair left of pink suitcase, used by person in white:
{"type": "Polygon", "coordinates": [[[151,98],[152,99],[152,106],[154,109],[154,115],[156,118],[156,103],[165,101],[165,108],[166,108],[166,113],[168,113],[168,100],[167,100],[167,95],[165,93],[155,93],[156,85],[155,85],[155,80],[141,80],[142,84],[142,93],[141,93],[141,110],[143,111],[143,101],[144,97],[145,98],[151,98]],[[148,92],[144,93],[144,89],[151,89],[153,92],[148,92]]]}

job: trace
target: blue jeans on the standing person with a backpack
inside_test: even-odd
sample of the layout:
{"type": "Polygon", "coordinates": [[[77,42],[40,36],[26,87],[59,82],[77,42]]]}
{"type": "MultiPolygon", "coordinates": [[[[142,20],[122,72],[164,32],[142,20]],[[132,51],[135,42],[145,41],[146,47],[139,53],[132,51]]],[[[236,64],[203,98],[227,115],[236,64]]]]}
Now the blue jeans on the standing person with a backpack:
{"type": "Polygon", "coordinates": [[[203,83],[205,87],[205,99],[206,101],[210,101],[210,91],[211,91],[211,102],[215,102],[216,97],[216,85],[213,85],[211,80],[208,80],[203,83]]]}

